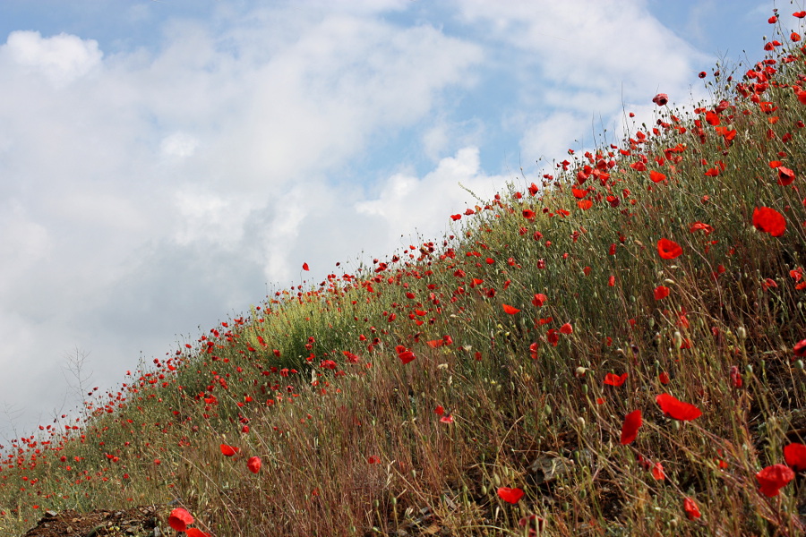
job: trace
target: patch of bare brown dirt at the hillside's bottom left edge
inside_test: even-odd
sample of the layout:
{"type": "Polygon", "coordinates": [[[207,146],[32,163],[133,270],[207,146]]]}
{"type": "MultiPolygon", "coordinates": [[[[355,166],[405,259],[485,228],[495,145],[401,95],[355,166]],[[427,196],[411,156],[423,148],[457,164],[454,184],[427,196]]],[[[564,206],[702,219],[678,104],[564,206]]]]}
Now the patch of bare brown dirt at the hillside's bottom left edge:
{"type": "Polygon", "coordinates": [[[46,511],[36,527],[23,537],[164,537],[159,520],[166,517],[167,508],[159,506],[99,509],[90,513],[73,509],[46,511]]]}

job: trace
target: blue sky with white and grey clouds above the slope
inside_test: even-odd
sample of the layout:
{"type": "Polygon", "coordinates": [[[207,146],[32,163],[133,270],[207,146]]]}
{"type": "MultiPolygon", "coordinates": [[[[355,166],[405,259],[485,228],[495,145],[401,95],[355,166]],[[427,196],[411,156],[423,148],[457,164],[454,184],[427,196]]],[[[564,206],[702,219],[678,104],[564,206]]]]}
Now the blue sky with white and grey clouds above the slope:
{"type": "Polygon", "coordinates": [[[468,190],[617,141],[658,92],[708,98],[698,73],[761,59],[772,9],[3,0],[0,439],[337,261],[440,239],[468,190]]]}

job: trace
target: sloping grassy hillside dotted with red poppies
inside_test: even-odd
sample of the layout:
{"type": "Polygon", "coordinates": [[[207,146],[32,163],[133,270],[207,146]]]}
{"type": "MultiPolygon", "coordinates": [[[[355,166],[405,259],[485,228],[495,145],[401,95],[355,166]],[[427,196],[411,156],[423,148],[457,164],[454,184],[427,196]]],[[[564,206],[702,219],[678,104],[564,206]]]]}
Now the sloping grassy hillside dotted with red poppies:
{"type": "Polygon", "coordinates": [[[175,500],[216,536],[802,534],[786,34],[703,73],[712,102],[658,96],[656,124],[479,200],[455,236],[270,296],[19,439],[0,533],[175,500]]]}

